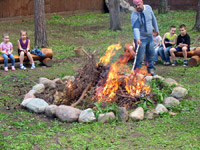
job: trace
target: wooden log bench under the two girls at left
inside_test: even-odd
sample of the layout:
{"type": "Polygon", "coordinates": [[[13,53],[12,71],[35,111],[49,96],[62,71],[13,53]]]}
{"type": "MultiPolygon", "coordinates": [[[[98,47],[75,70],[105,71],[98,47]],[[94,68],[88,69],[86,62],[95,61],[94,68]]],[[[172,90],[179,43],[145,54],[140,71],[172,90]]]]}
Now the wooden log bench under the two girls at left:
{"type": "MultiPolygon", "coordinates": [[[[51,48],[42,48],[41,49],[41,52],[45,54],[45,57],[40,57],[40,56],[37,56],[37,55],[32,55],[33,57],[33,60],[36,61],[36,60],[39,60],[40,62],[42,62],[44,65],[48,66],[48,67],[51,67],[53,65],[53,51],[51,48]]],[[[19,55],[14,55],[15,57],[15,62],[19,62],[19,55]]],[[[24,62],[28,62],[29,59],[27,56],[24,56],[24,62]]],[[[8,62],[10,63],[10,58],[8,59],[8,62]]],[[[4,58],[2,56],[0,56],[0,64],[3,64],[4,63],[4,58]]]]}

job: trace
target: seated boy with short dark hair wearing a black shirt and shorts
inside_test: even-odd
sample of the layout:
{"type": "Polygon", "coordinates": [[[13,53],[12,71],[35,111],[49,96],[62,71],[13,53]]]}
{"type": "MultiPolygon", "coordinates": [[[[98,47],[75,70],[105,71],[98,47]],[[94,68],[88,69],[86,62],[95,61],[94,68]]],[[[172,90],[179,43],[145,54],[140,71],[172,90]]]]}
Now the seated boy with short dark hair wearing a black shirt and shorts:
{"type": "Polygon", "coordinates": [[[184,57],[184,62],[183,66],[187,66],[187,51],[190,50],[190,36],[187,34],[186,26],[184,24],[180,25],[180,35],[178,36],[177,39],[177,48],[171,48],[170,49],[170,54],[172,56],[173,64],[172,66],[176,66],[178,63],[176,61],[176,56],[175,52],[182,51],[183,52],[183,57],[184,57]]]}

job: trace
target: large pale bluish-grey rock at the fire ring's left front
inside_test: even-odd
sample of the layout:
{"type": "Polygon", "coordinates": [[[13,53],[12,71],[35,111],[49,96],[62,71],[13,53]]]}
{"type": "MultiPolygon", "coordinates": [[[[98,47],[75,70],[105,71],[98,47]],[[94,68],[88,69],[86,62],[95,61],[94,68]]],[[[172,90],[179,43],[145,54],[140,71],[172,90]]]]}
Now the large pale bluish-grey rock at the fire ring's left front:
{"type": "Polygon", "coordinates": [[[49,104],[46,101],[44,101],[43,99],[32,98],[26,104],[26,108],[32,110],[35,113],[43,113],[48,105],[49,104]]]}

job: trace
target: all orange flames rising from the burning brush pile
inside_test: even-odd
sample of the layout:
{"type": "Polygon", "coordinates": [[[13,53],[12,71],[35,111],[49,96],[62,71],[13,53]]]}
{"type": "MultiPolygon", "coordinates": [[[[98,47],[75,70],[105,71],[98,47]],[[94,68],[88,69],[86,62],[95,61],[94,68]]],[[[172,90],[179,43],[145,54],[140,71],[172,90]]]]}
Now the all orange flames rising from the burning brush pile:
{"type": "MultiPolygon", "coordinates": [[[[112,56],[115,55],[114,49],[119,50],[121,48],[120,44],[111,45],[108,47],[105,56],[103,56],[99,63],[108,64],[112,56]]],[[[147,75],[147,68],[143,67],[139,70],[139,73],[143,77],[139,77],[139,73],[135,74],[134,71],[130,71],[127,65],[124,65],[130,56],[124,55],[120,57],[117,62],[111,65],[107,80],[103,86],[96,88],[96,97],[98,102],[112,102],[116,96],[116,92],[122,83],[120,81],[120,74],[124,75],[124,72],[128,72],[130,75],[126,75],[124,80],[126,82],[125,89],[130,96],[140,96],[143,94],[150,93],[150,86],[145,85],[144,75],[147,75]]]]}

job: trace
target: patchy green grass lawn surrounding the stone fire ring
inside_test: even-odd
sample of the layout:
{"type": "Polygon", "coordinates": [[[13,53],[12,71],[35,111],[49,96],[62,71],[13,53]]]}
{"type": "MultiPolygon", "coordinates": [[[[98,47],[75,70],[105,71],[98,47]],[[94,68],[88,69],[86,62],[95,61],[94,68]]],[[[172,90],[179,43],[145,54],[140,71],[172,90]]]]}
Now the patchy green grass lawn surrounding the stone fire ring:
{"type": "MultiPolygon", "coordinates": [[[[47,20],[49,45],[54,51],[54,65],[50,68],[37,65],[35,70],[5,73],[0,70],[0,149],[200,149],[200,66],[184,68],[180,60],[177,67],[156,66],[156,73],[175,79],[189,90],[181,105],[173,111],[176,116],[164,114],[155,120],[110,124],[62,123],[21,109],[19,104],[39,77],[54,79],[75,75],[74,67],[84,64],[75,57],[73,49],[83,47],[96,50],[101,57],[106,48],[120,41],[132,42],[131,14],[121,14],[122,31],[110,32],[109,14],[87,14],[71,17],[52,16],[47,20]],[[8,107],[10,106],[10,107],[8,107]]],[[[155,12],[161,36],[171,25],[186,24],[192,43],[199,32],[191,29],[195,12],[173,11],[167,15],[155,12]]],[[[34,43],[32,21],[0,24],[0,33],[8,32],[17,53],[19,30],[25,29],[34,43]]],[[[178,31],[177,31],[178,32],[178,31]]],[[[198,41],[194,46],[200,45],[198,41]]],[[[121,50],[118,55],[123,52],[121,50]]]]}

